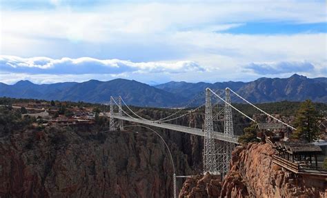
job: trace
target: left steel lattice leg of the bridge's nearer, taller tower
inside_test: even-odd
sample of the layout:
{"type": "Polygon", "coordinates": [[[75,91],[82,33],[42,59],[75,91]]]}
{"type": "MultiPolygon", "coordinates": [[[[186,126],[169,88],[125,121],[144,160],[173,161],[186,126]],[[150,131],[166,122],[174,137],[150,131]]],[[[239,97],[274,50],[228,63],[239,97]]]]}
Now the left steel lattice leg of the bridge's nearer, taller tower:
{"type": "Polygon", "coordinates": [[[217,169],[217,150],[215,148],[215,139],[212,138],[212,106],[210,100],[210,89],[206,89],[206,109],[204,120],[204,174],[209,172],[211,175],[219,175],[217,169]]]}

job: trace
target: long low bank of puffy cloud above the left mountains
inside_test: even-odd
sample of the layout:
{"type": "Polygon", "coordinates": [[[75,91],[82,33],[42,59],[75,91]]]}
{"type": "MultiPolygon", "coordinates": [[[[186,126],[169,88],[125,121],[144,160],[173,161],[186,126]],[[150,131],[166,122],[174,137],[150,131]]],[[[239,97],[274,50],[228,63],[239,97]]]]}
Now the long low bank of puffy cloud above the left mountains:
{"type": "Polygon", "coordinates": [[[119,75],[128,72],[139,73],[183,73],[203,72],[205,69],[194,61],[139,62],[119,59],[94,59],[81,57],[78,59],[48,57],[21,58],[14,56],[0,56],[0,70],[2,72],[51,74],[51,75],[84,75],[110,74],[119,75]]]}

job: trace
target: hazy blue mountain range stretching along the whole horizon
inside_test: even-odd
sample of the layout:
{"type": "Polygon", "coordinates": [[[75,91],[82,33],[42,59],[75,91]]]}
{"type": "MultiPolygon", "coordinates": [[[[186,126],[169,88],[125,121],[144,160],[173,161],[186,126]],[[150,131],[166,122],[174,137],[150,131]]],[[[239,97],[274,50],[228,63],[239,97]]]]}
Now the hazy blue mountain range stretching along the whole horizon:
{"type": "Polygon", "coordinates": [[[228,87],[253,103],[304,101],[305,99],[327,103],[327,78],[309,79],[300,75],[293,75],[286,79],[260,78],[250,82],[170,81],[157,86],[127,79],[41,85],[30,81],[18,81],[14,85],[0,83],[0,97],[105,103],[110,101],[110,95],[120,95],[130,105],[176,107],[183,106],[196,95],[204,92],[207,87],[212,90],[224,90],[228,87]]]}

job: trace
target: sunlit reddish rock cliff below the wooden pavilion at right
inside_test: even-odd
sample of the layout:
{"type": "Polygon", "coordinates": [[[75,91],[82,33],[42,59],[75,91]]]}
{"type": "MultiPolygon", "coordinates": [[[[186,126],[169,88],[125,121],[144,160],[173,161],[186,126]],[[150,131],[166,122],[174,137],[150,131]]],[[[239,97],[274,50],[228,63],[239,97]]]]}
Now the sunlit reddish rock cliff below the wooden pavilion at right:
{"type": "Polygon", "coordinates": [[[282,170],[272,162],[274,152],[268,143],[239,146],[224,182],[210,175],[191,178],[179,197],[327,197],[326,181],[282,170]]]}

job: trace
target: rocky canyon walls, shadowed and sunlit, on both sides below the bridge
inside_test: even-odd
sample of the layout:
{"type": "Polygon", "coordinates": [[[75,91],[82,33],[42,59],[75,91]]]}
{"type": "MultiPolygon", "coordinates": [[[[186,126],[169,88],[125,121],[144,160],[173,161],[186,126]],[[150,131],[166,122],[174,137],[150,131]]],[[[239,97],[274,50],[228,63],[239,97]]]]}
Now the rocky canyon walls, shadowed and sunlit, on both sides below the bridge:
{"type": "MultiPolygon", "coordinates": [[[[10,112],[17,113],[0,117],[0,197],[172,197],[168,150],[146,128],[109,131],[108,120],[103,126],[23,125],[26,120],[12,119],[10,112]]],[[[137,113],[163,116],[159,109],[137,113]]],[[[203,119],[190,114],[176,123],[199,128],[203,119]]],[[[202,175],[202,137],[155,130],[172,152],[176,174],[194,175],[177,179],[179,197],[326,197],[326,181],[273,164],[275,150],[268,143],[237,146],[222,181],[202,175]]]]}

